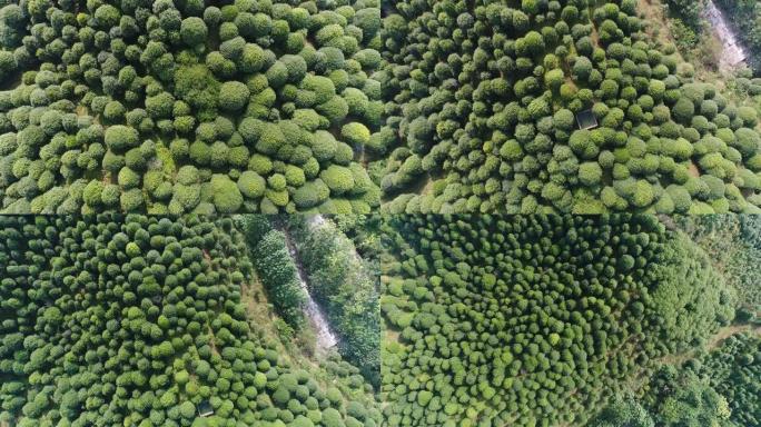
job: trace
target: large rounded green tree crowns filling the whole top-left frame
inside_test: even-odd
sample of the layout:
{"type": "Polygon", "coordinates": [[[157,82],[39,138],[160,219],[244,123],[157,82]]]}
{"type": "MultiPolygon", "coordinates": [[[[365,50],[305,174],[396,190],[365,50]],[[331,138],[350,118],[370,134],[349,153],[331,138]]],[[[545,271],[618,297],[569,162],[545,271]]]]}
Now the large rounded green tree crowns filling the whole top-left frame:
{"type": "Polygon", "coordinates": [[[0,211],[368,212],[377,0],[0,1],[0,211]]]}

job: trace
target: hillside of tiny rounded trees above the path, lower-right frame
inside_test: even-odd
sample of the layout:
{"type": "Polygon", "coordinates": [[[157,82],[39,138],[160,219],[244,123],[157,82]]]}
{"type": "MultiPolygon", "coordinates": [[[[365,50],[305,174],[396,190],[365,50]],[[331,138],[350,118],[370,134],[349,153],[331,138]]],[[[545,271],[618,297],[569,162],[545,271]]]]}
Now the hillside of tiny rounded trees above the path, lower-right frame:
{"type": "Polygon", "coordinates": [[[386,240],[389,426],[580,425],[734,316],[705,254],[652,216],[401,216],[386,240]]]}

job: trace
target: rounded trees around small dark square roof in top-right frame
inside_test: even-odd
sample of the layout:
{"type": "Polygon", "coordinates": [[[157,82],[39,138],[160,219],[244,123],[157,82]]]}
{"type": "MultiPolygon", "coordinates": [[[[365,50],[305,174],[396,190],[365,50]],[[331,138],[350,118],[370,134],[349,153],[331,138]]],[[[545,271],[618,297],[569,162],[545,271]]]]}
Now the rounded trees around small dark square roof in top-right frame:
{"type": "Polygon", "coordinates": [[[640,12],[636,0],[385,3],[387,113],[367,147],[386,210],[758,212],[758,111],[698,81],[640,12]],[[597,128],[577,128],[584,110],[597,128]]]}

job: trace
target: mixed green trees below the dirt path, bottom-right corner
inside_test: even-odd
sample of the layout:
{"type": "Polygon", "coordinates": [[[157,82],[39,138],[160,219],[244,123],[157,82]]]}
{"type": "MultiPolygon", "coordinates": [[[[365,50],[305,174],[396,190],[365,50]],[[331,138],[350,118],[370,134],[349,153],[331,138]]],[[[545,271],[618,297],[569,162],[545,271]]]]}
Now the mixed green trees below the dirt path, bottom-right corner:
{"type": "Polygon", "coordinates": [[[761,424],[761,338],[730,336],[681,366],[663,366],[640,399],[616,396],[590,427],[716,426],[761,424]]]}

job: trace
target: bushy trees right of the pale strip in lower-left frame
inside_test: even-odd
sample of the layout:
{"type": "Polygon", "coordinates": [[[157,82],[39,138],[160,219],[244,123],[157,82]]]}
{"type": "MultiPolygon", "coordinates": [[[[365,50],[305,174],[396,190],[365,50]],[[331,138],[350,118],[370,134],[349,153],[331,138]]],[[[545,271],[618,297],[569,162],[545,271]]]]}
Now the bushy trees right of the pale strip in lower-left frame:
{"type": "Polygon", "coordinates": [[[381,375],[377,275],[332,219],[294,216],[289,222],[309,292],[324,307],[339,337],[338,351],[370,384],[377,385],[381,375]]]}

